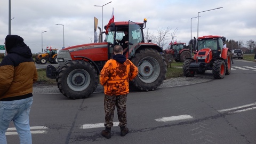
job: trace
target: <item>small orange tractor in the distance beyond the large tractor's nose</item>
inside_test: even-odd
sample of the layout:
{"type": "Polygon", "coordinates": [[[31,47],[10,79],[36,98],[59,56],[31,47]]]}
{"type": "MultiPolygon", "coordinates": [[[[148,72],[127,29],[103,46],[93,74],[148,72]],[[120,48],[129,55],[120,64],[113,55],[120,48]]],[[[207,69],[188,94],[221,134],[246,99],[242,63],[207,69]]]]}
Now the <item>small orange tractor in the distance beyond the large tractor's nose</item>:
{"type": "Polygon", "coordinates": [[[44,53],[42,54],[38,54],[35,58],[35,62],[41,63],[42,65],[45,65],[47,63],[47,61],[49,61],[50,63],[58,63],[57,61],[57,50],[58,49],[45,49],[44,53]]]}

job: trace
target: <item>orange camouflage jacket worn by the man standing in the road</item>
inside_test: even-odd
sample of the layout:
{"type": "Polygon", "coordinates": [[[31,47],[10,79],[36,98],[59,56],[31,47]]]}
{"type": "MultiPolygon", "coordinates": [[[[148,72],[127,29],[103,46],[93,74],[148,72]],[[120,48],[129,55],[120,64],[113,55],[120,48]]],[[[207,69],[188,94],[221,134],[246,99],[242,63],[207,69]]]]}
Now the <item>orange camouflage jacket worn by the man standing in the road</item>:
{"type": "Polygon", "coordinates": [[[123,95],[129,93],[129,81],[138,75],[138,68],[126,59],[119,63],[114,59],[106,62],[100,72],[100,84],[106,95],[123,95]]]}

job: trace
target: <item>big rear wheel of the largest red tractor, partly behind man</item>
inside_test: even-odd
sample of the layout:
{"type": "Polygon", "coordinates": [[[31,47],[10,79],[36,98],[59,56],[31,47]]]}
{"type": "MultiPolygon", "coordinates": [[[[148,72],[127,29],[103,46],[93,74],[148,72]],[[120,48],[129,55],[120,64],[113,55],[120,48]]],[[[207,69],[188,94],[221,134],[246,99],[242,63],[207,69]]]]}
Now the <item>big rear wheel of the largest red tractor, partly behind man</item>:
{"type": "Polygon", "coordinates": [[[154,49],[141,49],[131,59],[139,74],[131,82],[138,90],[154,91],[165,79],[167,71],[164,57],[154,49]]]}

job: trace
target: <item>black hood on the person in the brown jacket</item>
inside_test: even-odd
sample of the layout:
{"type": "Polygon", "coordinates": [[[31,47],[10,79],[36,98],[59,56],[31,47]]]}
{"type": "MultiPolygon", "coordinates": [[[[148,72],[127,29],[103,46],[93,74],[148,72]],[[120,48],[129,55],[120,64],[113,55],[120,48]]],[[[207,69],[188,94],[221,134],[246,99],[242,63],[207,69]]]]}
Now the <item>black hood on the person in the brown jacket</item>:
{"type": "Polygon", "coordinates": [[[7,35],[5,37],[5,49],[7,54],[17,53],[25,58],[32,57],[31,50],[23,41],[24,39],[18,35],[7,35]]]}

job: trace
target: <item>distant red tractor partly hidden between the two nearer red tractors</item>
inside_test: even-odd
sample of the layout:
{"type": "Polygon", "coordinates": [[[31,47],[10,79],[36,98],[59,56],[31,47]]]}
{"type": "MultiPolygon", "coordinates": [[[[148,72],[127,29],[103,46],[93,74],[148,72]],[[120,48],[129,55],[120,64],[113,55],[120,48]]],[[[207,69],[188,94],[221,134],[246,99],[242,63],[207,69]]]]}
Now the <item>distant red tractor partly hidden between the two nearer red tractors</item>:
{"type": "Polygon", "coordinates": [[[169,44],[170,49],[164,50],[165,58],[170,60],[175,60],[176,62],[184,62],[187,58],[191,58],[192,55],[189,52],[189,49],[184,49],[186,43],[176,43],[169,44]]]}

